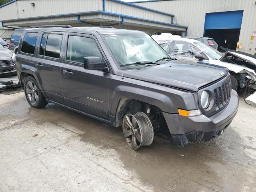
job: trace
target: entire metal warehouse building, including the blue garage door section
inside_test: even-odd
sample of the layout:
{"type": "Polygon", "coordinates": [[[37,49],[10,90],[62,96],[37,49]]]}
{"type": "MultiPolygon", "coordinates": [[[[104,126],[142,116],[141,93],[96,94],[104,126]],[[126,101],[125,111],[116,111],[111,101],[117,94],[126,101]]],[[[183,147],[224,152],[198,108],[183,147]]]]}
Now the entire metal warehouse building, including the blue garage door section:
{"type": "Polygon", "coordinates": [[[12,0],[0,6],[0,37],[33,25],[113,26],[181,36],[208,36],[224,48],[254,54],[256,0],[12,0]]]}

